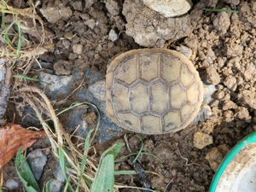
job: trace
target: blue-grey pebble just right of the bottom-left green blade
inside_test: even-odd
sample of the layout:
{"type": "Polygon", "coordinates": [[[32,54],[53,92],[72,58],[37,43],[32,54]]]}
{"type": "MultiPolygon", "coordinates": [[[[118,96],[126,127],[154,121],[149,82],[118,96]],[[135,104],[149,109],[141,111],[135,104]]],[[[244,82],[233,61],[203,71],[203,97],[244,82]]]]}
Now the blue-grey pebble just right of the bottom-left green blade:
{"type": "Polygon", "coordinates": [[[47,156],[42,150],[36,149],[28,154],[27,161],[32,169],[34,177],[39,180],[44,171],[44,166],[47,162],[47,156]]]}

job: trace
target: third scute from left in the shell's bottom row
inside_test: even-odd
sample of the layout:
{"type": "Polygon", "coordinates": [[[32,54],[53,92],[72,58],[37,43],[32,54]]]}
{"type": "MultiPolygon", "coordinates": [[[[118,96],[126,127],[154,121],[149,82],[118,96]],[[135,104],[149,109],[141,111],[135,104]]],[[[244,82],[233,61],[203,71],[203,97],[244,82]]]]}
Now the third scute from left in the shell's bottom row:
{"type": "Polygon", "coordinates": [[[180,119],[180,113],[177,112],[168,112],[164,116],[164,127],[165,127],[165,132],[170,131],[170,130],[175,130],[180,125],[182,124],[181,119],[180,119]]]}

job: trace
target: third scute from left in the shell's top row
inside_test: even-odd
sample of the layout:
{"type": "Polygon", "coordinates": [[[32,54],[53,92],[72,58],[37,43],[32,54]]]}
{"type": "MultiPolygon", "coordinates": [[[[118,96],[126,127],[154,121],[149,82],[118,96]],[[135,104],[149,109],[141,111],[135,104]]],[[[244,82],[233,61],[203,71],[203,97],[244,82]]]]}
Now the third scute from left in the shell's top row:
{"type": "Polygon", "coordinates": [[[166,57],[162,55],[160,75],[167,83],[172,83],[179,79],[180,61],[175,58],[166,57]]]}

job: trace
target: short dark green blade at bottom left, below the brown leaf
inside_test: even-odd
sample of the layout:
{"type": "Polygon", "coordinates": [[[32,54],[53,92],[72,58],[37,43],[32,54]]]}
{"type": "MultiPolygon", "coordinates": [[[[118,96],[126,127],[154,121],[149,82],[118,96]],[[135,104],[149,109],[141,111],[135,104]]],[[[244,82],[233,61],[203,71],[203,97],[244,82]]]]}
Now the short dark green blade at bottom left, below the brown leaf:
{"type": "Polygon", "coordinates": [[[28,165],[25,157],[21,153],[22,148],[19,149],[15,159],[15,167],[18,176],[20,177],[20,180],[26,188],[27,192],[39,192],[40,189],[33,175],[33,172],[31,171],[30,166],[28,165]]]}

